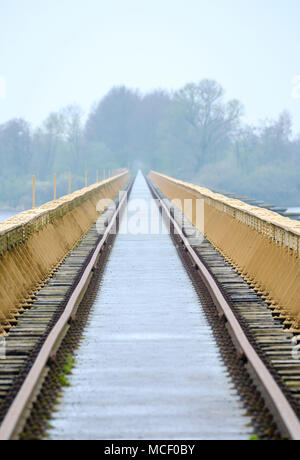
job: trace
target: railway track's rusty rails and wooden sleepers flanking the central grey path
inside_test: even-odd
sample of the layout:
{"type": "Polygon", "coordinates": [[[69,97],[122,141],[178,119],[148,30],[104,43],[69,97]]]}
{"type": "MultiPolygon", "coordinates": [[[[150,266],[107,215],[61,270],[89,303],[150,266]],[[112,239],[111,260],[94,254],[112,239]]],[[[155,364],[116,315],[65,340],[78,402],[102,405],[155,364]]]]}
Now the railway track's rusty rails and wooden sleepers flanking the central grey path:
{"type": "MultiPolygon", "coordinates": [[[[263,414],[258,425],[266,438],[299,440],[300,360],[294,359],[293,336],[181,212],[151,181],[148,185],[171,223],[173,241],[246,407],[252,407],[254,418],[263,414]]],[[[93,226],[10,331],[6,359],[0,361],[1,440],[17,439],[30,419],[49,362],[76,321],[99,256],[113,242],[110,230],[124,203],[125,197],[116,212],[109,208],[102,215],[100,238],[93,226]]]]}

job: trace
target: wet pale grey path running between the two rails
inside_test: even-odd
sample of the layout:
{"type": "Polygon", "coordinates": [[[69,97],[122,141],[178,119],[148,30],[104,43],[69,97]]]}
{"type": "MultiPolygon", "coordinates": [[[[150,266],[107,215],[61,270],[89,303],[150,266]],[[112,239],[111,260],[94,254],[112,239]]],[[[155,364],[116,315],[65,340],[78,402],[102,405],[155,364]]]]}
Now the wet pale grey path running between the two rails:
{"type": "MultiPolygon", "coordinates": [[[[136,199],[151,199],[141,175],[130,207],[136,199]]],[[[170,236],[122,234],[122,225],[50,439],[249,439],[170,236]]]]}

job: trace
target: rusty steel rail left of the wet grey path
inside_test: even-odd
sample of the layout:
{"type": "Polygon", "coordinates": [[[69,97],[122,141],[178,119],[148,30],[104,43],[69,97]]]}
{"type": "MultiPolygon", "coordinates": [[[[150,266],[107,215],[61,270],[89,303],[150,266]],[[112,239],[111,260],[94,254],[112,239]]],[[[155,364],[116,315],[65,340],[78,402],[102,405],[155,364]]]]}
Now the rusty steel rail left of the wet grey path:
{"type": "MultiPolygon", "coordinates": [[[[129,185],[129,190],[130,187],[131,185],[129,185]]],[[[36,357],[29,373],[26,376],[26,379],[24,380],[13,403],[11,404],[8,412],[6,413],[5,418],[3,419],[3,422],[0,426],[1,441],[8,441],[14,437],[16,430],[18,429],[20,420],[22,420],[23,414],[27,410],[28,404],[31,402],[32,395],[34,394],[34,391],[37,385],[39,384],[43,370],[47,366],[52,351],[55,349],[57,342],[59,341],[61,335],[63,334],[66,326],[68,325],[72,317],[72,313],[77,306],[78,299],[80,299],[80,296],[86,287],[86,283],[89,280],[90,274],[97,265],[98,256],[103,246],[105,245],[108,236],[110,235],[111,229],[117,222],[119,214],[121,214],[126,199],[127,192],[123,194],[122,199],[120,200],[118,207],[106,228],[103,238],[98,243],[89,264],[85,268],[79,283],[77,284],[74,292],[72,293],[66,305],[63,314],[61,315],[60,319],[53,327],[46,341],[41,347],[38,356],[36,357]]]]}

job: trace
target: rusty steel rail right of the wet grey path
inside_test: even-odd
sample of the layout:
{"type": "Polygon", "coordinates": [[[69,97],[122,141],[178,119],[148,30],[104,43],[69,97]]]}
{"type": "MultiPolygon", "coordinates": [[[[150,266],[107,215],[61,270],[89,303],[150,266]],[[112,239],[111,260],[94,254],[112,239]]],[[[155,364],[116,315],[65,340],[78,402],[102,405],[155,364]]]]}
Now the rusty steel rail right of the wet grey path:
{"type": "Polygon", "coordinates": [[[273,414],[277,424],[283,431],[285,436],[288,436],[291,440],[300,440],[300,421],[294,412],[289,401],[286,399],[281,388],[277,384],[276,380],[266,367],[260,356],[257,354],[251,343],[249,342],[245,332],[243,331],[240,323],[230,308],[227,300],[222,294],[215,279],[205,267],[203,262],[198,257],[195,250],[190,245],[188,239],[183,234],[177,221],[173,218],[168,206],[164,200],[159,196],[157,191],[152,185],[151,180],[148,178],[148,185],[152,191],[154,197],[159,201],[161,209],[164,214],[164,218],[169,220],[174,226],[178,236],[180,237],[183,245],[188,251],[192,258],[195,267],[199,270],[202,281],[207,287],[217,309],[222,312],[222,316],[226,318],[229,325],[229,332],[233,338],[235,346],[244,355],[247,360],[247,364],[250,366],[252,373],[256,377],[256,381],[259,384],[260,392],[265,396],[265,403],[269,410],[273,414]]]}

